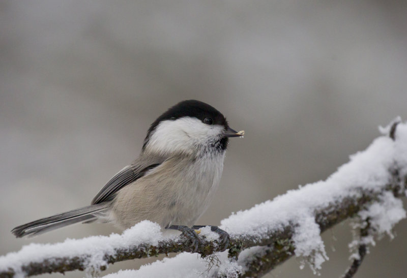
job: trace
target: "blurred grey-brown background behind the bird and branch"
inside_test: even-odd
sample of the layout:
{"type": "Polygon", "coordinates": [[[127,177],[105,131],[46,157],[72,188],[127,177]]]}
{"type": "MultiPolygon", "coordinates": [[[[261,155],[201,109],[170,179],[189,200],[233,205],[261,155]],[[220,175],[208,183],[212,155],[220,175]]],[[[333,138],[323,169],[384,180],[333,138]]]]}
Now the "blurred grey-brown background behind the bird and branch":
{"type": "MultiPolygon", "coordinates": [[[[2,1],[0,255],[118,232],[78,225],[24,240],[10,230],[89,204],[138,155],[150,123],[185,99],[246,131],[198,224],[325,179],[378,125],[407,119],[406,14],[405,1],[2,1]]],[[[405,272],[406,221],[395,230],[356,277],[405,272]]],[[[348,223],[324,239],[322,277],[338,277],[348,223]]],[[[268,277],[314,275],[293,258],[268,277]]]]}

